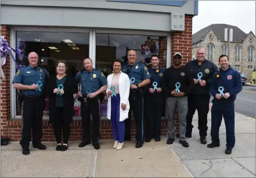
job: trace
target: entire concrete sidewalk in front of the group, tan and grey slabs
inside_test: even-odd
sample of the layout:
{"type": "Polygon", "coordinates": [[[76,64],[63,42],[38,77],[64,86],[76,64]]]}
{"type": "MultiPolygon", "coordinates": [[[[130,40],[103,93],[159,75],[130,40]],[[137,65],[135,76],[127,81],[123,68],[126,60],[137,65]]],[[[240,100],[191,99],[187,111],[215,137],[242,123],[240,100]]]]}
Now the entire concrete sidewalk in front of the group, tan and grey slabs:
{"type": "MultiPolygon", "coordinates": [[[[211,112],[207,143],[211,142],[210,116],[211,112]]],[[[224,153],[223,121],[221,147],[214,149],[199,141],[197,113],[193,125],[189,148],[178,139],[168,146],[167,138],[145,143],[141,149],[135,149],[135,141],[125,142],[119,151],[112,148],[113,141],[100,142],[97,151],[91,145],[79,148],[78,142],[71,142],[64,152],[55,151],[55,143],[45,143],[47,150],[31,147],[25,156],[19,143],[10,143],[1,147],[1,177],[255,177],[254,118],[236,114],[236,145],[231,155],[224,153]]]]}

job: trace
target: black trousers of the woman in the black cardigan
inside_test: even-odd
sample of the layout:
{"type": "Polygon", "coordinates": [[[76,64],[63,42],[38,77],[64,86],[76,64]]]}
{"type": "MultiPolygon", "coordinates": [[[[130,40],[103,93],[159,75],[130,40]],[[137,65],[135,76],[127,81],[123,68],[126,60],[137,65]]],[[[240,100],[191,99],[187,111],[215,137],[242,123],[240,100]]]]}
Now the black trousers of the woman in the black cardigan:
{"type": "Polygon", "coordinates": [[[63,131],[63,143],[67,144],[70,136],[70,123],[64,121],[64,108],[56,107],[56,118],[54,120],[53,129],[57,143],[62,143],[62,131],[63,131]]]}

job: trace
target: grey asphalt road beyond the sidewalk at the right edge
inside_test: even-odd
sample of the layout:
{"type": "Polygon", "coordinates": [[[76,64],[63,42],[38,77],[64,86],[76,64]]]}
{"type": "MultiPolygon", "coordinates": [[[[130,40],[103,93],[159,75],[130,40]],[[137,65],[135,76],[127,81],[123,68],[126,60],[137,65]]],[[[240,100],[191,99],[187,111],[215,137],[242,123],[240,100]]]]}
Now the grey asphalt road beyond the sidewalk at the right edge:
{"type": "Polygon", "coordinates": [[[255,98],[255,87],[243,86],[235,101],[235,112],[255,118],[255,98]]]}

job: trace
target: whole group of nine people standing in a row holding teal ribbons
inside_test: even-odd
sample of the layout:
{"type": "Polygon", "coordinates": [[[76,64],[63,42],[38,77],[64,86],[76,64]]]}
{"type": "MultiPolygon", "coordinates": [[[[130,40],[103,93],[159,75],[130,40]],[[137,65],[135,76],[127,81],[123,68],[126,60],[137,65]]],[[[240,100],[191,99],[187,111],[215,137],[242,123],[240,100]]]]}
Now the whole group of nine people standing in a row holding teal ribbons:
{"type": "Polygon", "coordinates": [[[49,120],[53,124],[57,142],[57,151],[68,149],[70,124],[73,120],[74,98],[81,102],[82,142],[79,147],[91,143],[100,149],[100,98],[107,92],[107,118],[111,120],[116,150],[122,149],[124,141],[131,140],[131,113],[136,123],[136,148],[160,139],[161,116],[166,103],[168,120],[167,144],[175,140],[175,110],[179,117],[179,143],[189,147],[186,138],[192,137],[192,118],[197,109],[199,114],[200,142],[206,144],[207,114],[210,93],[212,101],[212,143],[207,146],[219,146],[219,127],[222,115],[227,132],[226,154],[230,154],[235,145],[235,112],[236,94],[241,91],[239,72],[229,65],[226,55],[219,57],[221,68],[205,60],[205,50],[197,50],[197,60],[182,65],[182,54],[175,53],[172,66],[164,71],[160,68],[157,55],[151,57],[151,68],[136,61],[136,51],[128,51],[128,62],[124,66],[120,60],[114,60],[113,73],[106,77],[93,68],[91,58],[84,60],[84,69],[75,77],[66,75],[67,66],[64,61],[57,62],[56,75],[38,66],[37,53],[28,55],[30,65],[17,71],[13,79],[13,87],[21,90],[24,96],[22,112],[22,153],[30,154],[28,149],[33,130],[33,147],[45,150],[41,143],[42,116],[44,99],[49,98],[49,120]],[[78,83],[81,90],[78,90],[78,83]],[[219,87],[223,90],[220,93],[219,87]],[[225,109],[226,108],[226,109],[225,109]],[[91,139],[91,116],[93,135],[91,139]],[[144,136],[143,120],[146,118],[146,135],[144,136]],[[63,134],[63,142],[62,142],[63,134]]]}

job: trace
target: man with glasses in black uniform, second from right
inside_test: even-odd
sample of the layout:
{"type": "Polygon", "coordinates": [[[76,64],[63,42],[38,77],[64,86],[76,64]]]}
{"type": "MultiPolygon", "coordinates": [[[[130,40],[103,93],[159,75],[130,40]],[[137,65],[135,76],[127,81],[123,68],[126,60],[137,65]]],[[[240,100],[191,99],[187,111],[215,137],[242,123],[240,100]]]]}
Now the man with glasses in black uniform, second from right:
{"type": "Polygon", "coordinates": [[[196,58],[196,60],[189,61],[188,64],[186,64],[194,79],[194,87],[192,88],[191,94],[188,95],[186,137],[192,137],[192,118],[197,109],[200,142],[201,144],[206,144],[208,129],[207,114],[209,112],[209,102],[211,97],[211,77],[218,71],[218,68],[213,62],[205,60],[204,49],[200,48],[197,50],[196,58]]]}

